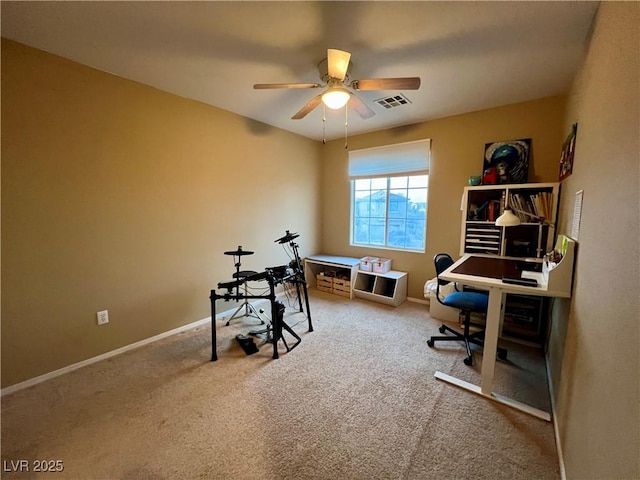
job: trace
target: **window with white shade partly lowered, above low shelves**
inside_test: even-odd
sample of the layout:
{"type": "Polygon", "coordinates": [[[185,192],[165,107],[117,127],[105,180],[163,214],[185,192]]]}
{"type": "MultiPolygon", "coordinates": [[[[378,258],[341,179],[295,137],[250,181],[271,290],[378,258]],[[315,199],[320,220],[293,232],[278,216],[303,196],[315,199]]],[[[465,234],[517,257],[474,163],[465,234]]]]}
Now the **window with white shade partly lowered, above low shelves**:
{"type": "Polygon", "coordinates": [[[351,245],[425,251],[429,144],[349,152],[351,245]]]}

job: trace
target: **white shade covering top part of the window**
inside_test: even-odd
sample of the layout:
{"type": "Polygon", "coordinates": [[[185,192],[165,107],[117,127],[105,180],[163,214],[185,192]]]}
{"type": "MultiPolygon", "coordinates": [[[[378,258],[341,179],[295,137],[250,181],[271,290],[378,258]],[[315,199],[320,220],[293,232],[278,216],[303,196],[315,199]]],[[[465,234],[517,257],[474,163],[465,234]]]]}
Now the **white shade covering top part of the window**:
{"type": "Polygon", "coordinates": [[[349,151],[349,177],[371,178],[429,172],[431,140],[349,151]]]}

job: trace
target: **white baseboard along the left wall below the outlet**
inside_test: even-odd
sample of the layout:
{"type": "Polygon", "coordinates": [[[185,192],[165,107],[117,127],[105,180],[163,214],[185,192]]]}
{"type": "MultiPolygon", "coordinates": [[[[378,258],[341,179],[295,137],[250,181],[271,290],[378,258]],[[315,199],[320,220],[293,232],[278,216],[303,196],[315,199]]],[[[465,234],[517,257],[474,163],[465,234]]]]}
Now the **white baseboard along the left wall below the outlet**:
{"type": "MultiPolygon", "coordinates": [[[[260,302],[253,302],[253,303],[260,303],[260,302]]],[[[226,310],[222,313],[216,314],[216,319],[219,320],[221,318],[226,317],[227,315],[233,314],[235,311],[235,308],[236,307],[234,307],[233,309],[226,310]]],[[[117,348],[115,350],[111,350],[110,352],[103,353],[102,355],[88,358],[81,362],[74,363],[66,367],[62,367],[58,370],[54,370],[53,372],[45,373],[44,375],[40,375],[38,377],[30,378],[29,380],[25,380],[24,382],[16,383],[15,385],[11,385],[9,387],[3,388],[0,391],[0,397],[8,395],[10,393],[17,392],[18,390],[22,390],[24,388],[32,387],[33,385],[37,385],[38,383],[46,382],[47,380],[50,380],[55,377],[59,377],[60,375],[64,375],[65,373],[69,373],[79,368],[86,367],[87,365],[91,365],[92,363],[101,362],[102,360],[115,357],[116,355],[120,355],[121,353],[128,352],[136,348],[140,348],[144,345],[149,345],[150,343],[157,342],[158,340],[162,340],[163,338],[167,338],[181,332],[186,332],[187,330],[197,328],[209,322],[211,322],[211,317],[203,318],[202,320],[197,320],[187,325],[183,325],[182,327],[174,328],[173,330],[160,333],[159,335],[154,335],[153,337],[145,338],[144,340],[140,340],[139,342],[135,342],[130,345],[117,348]]]]}

